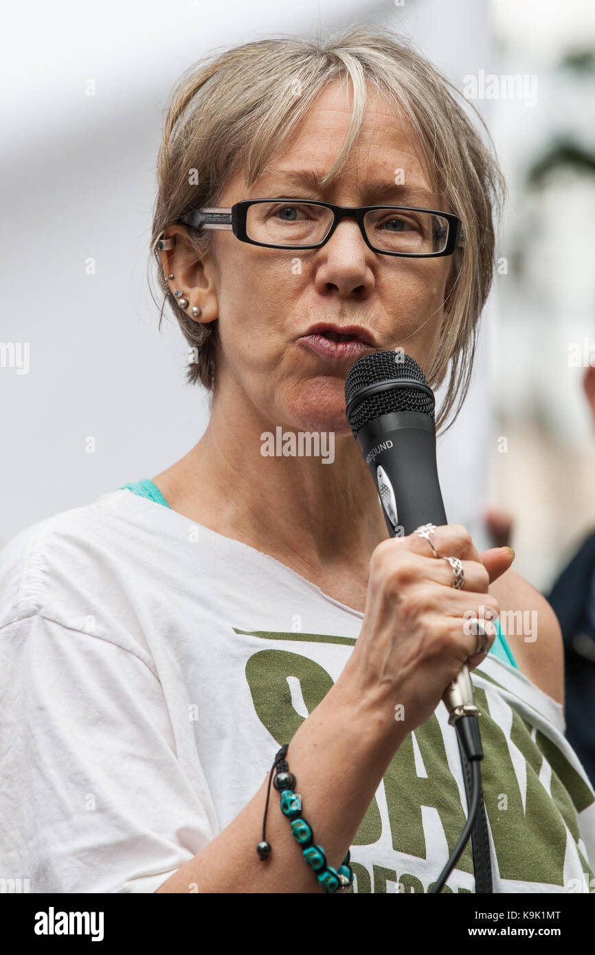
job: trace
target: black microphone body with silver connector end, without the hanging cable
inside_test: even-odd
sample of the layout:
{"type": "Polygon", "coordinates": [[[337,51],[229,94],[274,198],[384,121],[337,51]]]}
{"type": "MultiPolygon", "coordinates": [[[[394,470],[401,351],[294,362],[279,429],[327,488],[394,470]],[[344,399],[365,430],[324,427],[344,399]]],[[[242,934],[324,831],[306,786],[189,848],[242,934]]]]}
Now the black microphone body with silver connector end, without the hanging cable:
{"type": "MultiPolygon", "coordinates": [[[[403,351],[364,355],[347,375],[345,403],[389,533],[402,537],[422,524],[446,524],[436,467],[434,392],[414,358],[403,351]]],[[[466,666],[442,699],[451,724],[461,716],[478,715],[466,666]]]]}

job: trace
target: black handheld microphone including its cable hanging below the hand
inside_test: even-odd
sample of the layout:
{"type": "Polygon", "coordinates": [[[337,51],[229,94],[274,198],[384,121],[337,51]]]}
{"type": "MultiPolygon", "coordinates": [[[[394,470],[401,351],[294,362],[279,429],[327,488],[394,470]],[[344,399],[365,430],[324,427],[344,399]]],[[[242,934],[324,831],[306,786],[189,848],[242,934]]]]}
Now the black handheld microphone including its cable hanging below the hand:
{"type": "MultiPolygon", "coordinates": [[[[346,414],[378,491],[392,537],[411,534],[426,523],[446,524],[436,467],[434,393],[417,362],[403,351],[373,351],[351,367],[345,381],[346,414]]],[[[448,862],[436,881],[440,892],[473,835],[476,891],[492,891],[489,852],[480,838],[485,823],[481,793],[479,711],[469,669],[463,666],[442,694],[449,723],[457,731],[469,815],[448,862]],[[465,761],[469,760],[470,765],[465,761]],[[467,783],[466,783],[467,786],[467,783]],[[478,888],[480,886],[480,888],[478,888]]]]}

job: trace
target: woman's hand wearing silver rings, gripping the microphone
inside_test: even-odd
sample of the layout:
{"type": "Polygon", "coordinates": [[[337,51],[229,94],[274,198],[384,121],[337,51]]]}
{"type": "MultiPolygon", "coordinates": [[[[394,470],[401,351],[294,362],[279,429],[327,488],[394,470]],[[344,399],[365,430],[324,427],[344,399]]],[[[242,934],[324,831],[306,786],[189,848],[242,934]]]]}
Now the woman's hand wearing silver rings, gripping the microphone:
{"type": "Polygon", "coordinates": [[[460,559],[463,586],[453,586],[451,565],[418,534],[379,543],[361,633],[336,684],[397,745],[429,719],[463,664],[473,669],[484,659],[476,652],[477,634],[465,623],[472,615],[484,622],[492,646],[499,603],[488,587],[514,560],[510,548],[491,552],[488,573],[462,524],[437,527],[432,540],[439,555],[460,559]]]}

